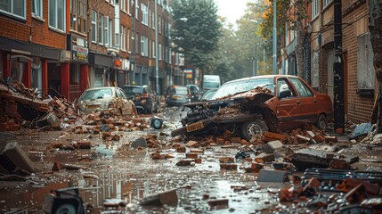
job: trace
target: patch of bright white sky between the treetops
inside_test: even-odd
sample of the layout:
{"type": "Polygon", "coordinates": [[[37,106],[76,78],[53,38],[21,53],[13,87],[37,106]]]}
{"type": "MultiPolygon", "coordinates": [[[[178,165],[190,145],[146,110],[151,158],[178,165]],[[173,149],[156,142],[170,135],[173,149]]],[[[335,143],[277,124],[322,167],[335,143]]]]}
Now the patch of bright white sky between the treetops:
{"type": "Polygon", "coordinates": [[[227,18],[232,24],[236,23],[245,14],[246,4],[253,0],[215,0],[218,14],[227,18]]]}

